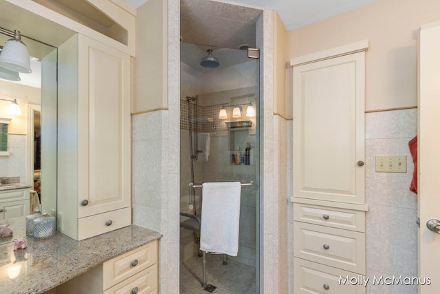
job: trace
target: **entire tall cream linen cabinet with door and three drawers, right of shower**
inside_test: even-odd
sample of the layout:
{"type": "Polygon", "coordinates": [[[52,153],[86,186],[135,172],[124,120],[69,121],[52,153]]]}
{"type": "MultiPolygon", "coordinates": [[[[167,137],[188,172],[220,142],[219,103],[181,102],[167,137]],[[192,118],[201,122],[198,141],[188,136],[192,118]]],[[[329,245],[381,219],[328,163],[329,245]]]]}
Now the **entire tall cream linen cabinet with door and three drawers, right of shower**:
{"type": "Polygon", "coordinates": [[[300,56],[294,67],[294,293],[365,293],[365,50],[300,56]]]}

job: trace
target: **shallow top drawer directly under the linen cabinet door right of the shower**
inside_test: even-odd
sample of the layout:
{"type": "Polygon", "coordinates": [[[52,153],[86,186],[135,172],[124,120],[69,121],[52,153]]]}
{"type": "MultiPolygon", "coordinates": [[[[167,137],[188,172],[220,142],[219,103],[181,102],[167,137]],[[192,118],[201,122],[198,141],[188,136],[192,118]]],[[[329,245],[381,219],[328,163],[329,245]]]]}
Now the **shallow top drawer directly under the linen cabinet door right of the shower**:
{"type": "Polygon", "coordinates": [[[337,207],[294,203],[294,220],[365,232],[365,212],[337,207]]]}

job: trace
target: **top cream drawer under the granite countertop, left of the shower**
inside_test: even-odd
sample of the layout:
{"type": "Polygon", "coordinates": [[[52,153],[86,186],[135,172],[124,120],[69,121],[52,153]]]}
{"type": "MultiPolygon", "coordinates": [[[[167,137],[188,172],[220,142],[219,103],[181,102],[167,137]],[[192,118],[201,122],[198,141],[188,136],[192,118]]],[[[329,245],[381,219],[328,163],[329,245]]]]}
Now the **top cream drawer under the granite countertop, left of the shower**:
{"type": "Polygon", "coordinates": [[[153,264],[157,264],[157,241],[104,262],[104,282],[102,288],[106,290],[153,264]],[[133,264],[135,265],[133,266],[133,264]]]}

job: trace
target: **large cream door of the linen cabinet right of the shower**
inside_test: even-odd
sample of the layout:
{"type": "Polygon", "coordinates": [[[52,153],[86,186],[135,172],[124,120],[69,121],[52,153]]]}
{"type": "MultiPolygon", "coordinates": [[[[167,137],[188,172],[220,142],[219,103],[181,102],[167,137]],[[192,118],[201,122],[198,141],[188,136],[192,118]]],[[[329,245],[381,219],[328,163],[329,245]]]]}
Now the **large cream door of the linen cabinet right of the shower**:
{"type": "Polygon", "coordinates": [[[294,67],[294,197],[364,203],[364,59],[294,67]]]}

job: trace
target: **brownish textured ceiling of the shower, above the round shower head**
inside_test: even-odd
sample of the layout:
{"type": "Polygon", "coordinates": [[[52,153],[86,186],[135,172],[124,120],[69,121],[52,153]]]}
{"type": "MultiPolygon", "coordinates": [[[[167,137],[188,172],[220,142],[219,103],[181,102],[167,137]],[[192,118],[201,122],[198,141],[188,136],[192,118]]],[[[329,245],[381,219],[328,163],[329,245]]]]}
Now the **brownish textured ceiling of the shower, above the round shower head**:
{"type": "Polygon", "coordinates": [[[180,36],[186,43],[239,49],[255,47],[262,10],[206,0],[180,1],[180,36]]]}

